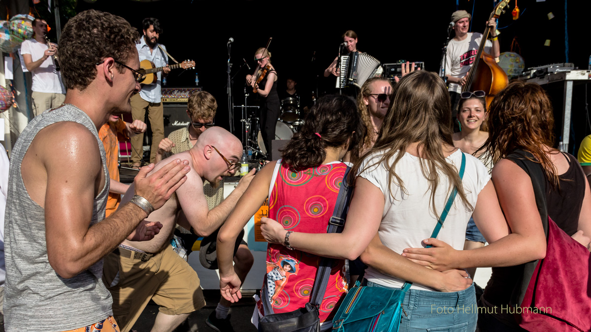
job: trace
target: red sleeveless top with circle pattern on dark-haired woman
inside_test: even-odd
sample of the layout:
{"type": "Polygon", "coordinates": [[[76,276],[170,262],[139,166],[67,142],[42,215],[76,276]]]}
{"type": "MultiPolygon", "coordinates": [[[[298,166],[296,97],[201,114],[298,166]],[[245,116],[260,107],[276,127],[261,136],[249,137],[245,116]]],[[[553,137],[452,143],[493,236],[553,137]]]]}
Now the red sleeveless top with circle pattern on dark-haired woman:
{"type": "MultiPolygon", "coordinates": [[[[331,162],[296,173],[285,165],[278,166],[277,176],[271,181],[269,218],[277,220],[285,230],[326,233],[346,168],[343,162],[331,162]]],[[[310,301],[319,263],[320,256],[282,245],[268,245],[268,300],[276,314],[297,310],[310,301]]],[[[345,261],[334,259],[319,308],[321,322],[332,320],[332,311],[336,313],[337,304],[346,292],[345,261]]],[[[258,308],[262,313],[261,301],[258,308]]]]}

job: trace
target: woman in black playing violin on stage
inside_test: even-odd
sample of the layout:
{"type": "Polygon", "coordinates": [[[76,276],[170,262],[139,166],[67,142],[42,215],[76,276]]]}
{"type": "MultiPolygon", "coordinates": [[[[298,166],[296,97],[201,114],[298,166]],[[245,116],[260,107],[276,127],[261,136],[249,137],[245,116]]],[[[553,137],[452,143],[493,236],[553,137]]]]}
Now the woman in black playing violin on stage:
{"type": "Polygon", "coordinates": [[[280,99],[277,94],[277,71],[271,64],[271,52],[261,47],[255,52],[258,69],[267,73],[261,82],[256,83],[259,73],[246,75],[246,84],[257,89],[261,96],[261,135],[267,149],[267,160],[271,161],[271,141],[275,139],[275,126],[280,113],[280,99]]]}

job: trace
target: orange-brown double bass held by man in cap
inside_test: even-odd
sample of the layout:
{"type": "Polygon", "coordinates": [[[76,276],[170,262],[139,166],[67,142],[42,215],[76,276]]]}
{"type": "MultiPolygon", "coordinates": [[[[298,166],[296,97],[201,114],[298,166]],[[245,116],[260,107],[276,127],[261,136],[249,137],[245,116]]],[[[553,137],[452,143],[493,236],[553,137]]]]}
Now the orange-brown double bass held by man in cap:
{"type": "MultiPolygon", "coordinates": [[[[501,2],[495,6],[495,10],[492,11],[489,20],[493,17],[499,18],[499,16],[505,12],[505,7],[509,5],[509,1],[510,0],[501,0],[501,2]]],[[[474,92],[479,90],[486,92],[485,99],[487,108],[491,105],[493,97],[495,97],[495,95],[502,89],[505,89],[509,84],[507,74],[496,63],[495,57],[483,51],[490,32],[491,27],[487,26],[482,34],[482,39],[480,39],[478,53],[476,53],[475,60],[468,72],[466,84],[462,86],[462,92],[474,92]]]]}

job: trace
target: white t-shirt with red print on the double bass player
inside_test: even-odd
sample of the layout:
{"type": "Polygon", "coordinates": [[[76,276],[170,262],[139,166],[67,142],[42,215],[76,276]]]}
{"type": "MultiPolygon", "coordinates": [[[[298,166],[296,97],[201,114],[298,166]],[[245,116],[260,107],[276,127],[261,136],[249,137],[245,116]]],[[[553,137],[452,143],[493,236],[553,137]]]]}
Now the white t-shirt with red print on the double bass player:
{"type": "MultiPolygon", "coordinates": [[[[446,76],[464,77],[470,71],[472,63],[478,53],[478,47],[482,34],[478,32],[468,32],[464,40],[450,40],[447,45],[446,57],[446,76]]],[[[484,45],[484,51],[491,53],[492,41],[487,40],[484,45]]],[[[449,83],[449,91],[460,93],[462,86],[457,83],[449,83]]]]}

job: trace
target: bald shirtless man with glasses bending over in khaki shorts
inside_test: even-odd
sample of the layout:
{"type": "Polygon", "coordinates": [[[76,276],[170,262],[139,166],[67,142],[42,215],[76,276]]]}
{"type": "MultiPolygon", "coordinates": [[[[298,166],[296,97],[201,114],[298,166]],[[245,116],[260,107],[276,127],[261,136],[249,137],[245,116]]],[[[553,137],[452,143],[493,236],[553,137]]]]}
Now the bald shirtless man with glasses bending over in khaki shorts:
{"type": "MultiPolygon", "coordinates": [[[[170,238],[178,214],[181,226],[207,236],[222,226],[238,198],[248,188],[254,170],[243,177],[238,186],[219,206],[209,210],[203,194],[203,180],[217,186],[222,178],[233,175],[236,162],[242,157],[242,144],[236,136],[223,128],[207,129],[193,148],[158,162],[157,171],[170,158],[189,160],[191,170],[187,181],[176,194],[147,217],[148,221],[163,224],[160,233],[150,241],[124,240],[119,248],[105,258],[103,282],[113,296],[113,315],[128,332],[150,299],[160,305],[152,331],[173,331],[190,313],[205,305],[199,278],[189,263],[173,251],[170,238]],[[186,224],[182,224],[186,222],[186,224]]],[[[240,163],[238,162],[238,166],[240,163]]],[[[129,187],[124,201],[133,196],[129,187]]]]}

